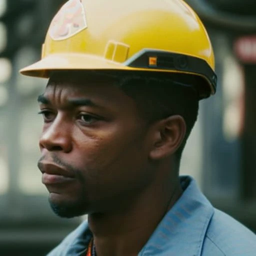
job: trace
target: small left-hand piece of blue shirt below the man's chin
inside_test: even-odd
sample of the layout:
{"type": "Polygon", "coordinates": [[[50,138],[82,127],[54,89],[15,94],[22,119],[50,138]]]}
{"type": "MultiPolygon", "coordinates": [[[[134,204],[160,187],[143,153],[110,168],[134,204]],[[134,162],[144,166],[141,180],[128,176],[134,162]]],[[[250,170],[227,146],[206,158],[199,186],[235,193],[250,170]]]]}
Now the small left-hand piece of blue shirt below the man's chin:
{"type": "Polygon", "coordinates": [[[69,233],[47,256],[83,255],[84,244],[91,239],[87,221],[83,221],[76,229],[69,233]]]}

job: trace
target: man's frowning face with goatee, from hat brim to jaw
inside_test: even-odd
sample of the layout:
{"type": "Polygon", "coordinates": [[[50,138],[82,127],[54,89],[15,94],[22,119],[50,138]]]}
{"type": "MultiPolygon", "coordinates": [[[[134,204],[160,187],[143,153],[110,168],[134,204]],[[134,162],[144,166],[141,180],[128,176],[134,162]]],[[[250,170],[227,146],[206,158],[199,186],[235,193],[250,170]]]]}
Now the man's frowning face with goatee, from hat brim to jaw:
{"type": "Polygon", "coordinates": [[[56,77],[38,101],[44,119],[38,167],[55,213],[125,207],[150,183],[146,125],[113,82],[56,77]]]}

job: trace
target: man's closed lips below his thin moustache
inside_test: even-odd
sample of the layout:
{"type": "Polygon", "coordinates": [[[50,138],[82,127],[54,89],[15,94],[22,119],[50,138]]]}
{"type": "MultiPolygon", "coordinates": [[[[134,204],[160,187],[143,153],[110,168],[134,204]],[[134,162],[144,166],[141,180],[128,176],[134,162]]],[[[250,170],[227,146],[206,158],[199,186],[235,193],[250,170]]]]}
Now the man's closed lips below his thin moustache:
{"type": "Polygon", "coordinates": [[[42,172],[43,184],[68,182],[74,179],[74,173],[52,162],[41,161],[38,168],[42,172]]]}

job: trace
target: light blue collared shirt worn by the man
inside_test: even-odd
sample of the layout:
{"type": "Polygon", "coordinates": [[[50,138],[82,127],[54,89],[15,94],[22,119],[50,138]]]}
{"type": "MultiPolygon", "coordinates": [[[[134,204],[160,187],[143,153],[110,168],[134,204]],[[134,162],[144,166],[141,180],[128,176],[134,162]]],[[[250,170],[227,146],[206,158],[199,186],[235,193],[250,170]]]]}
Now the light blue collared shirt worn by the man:
{"type": "MultiPolygon", "coordinates": [[[[194,179],[181,176],[181,197],[138,256],[256,256],[256,235],[213,208],[194,179]]],[[[139,234],[138,234],[139,235],[139,234]]],[[[92,234],[82,222],[48,256],[84,256],[92,234]]]]}

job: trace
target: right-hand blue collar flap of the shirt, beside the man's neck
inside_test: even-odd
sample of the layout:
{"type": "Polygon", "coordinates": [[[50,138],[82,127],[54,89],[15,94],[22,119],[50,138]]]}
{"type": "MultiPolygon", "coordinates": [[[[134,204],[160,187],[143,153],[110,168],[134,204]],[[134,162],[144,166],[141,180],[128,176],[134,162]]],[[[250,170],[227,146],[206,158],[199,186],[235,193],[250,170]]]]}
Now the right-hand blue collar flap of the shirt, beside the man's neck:
{"type": "Polygon", "coordinates": [[[138,256],[200,255],[213,206],[190,176],[180,177],[183,193],[166,213],[138,256]]]}

